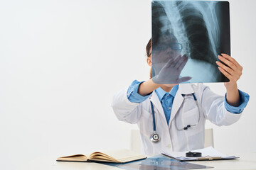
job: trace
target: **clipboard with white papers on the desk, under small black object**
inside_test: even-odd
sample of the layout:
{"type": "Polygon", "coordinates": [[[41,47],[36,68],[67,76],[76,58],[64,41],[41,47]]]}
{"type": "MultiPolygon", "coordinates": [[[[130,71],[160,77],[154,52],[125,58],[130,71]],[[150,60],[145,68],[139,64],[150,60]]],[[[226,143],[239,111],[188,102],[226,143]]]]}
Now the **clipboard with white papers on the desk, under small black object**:
{"type": "MultiPolygon", "coordinates": [[[[188,151],[187,151],[188,152],[188,151]]],[[[211,160],[221,160],[221,159],[235,159],[235,156],[228,156],[216,151],[213,147],[206,147],[203,149],[193,150],[191,152],[201,152],[202,157],[186,157],[186,152],[169,152],[169,153],[161,153],[166,157],[170,157],[172,159],[176,159],[178,161],[211,161],[211,160]]]]}

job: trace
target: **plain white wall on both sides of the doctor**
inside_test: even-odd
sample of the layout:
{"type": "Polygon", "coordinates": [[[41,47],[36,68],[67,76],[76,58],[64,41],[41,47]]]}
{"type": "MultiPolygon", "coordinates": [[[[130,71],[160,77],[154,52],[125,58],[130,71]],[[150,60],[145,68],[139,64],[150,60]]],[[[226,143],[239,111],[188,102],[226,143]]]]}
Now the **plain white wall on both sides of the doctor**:
{"type": "MultiPolygon", "coordinates": [[[[214,128],[215,148],[256,152],[255,1],[230,1],[232,55],[250,103],[214,128]]],[[[28,159],[129,148],[136,125],[115,118],[115,92],[146,80],[151,1],[0,1],[0,169],[28,159]]],[[[208,84],[224,94],[223,84],[208,84]]]]}

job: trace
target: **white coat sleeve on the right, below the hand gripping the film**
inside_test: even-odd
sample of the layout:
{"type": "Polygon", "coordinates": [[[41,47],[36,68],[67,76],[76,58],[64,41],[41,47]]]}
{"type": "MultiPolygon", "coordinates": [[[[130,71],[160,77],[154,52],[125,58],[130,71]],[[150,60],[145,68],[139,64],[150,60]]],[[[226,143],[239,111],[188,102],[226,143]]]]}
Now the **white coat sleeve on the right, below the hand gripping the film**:
{"type": "Polygon", "coordinates": [[[231,125],[239,120],[240,114],[230,113],[224,105],[224,96],[213,93],[208,86],[198,84],[201,93],[201,108],[206,119],[215,125],[231,125]]]}

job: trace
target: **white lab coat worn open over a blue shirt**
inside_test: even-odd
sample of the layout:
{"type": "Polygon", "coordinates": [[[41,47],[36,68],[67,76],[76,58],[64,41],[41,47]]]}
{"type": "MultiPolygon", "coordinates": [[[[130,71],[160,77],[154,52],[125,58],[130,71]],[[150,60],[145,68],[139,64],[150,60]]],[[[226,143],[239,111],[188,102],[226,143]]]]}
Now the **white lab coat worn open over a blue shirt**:
{"type": "MultiPolygon", "coordinates": [[[[128,89],[128,88],[127,88],[128,89]]],[[[127,89],[114,95],[112,108],[118,120],[137,123],[142,139],[143,152],[146,155],[170,151],[188,151],[201,149],[204,145],[206,119],[215,125],[230,125],[238,121],[241,114],[230,113],[225,109],[224,97],[214,94],[203,84],[179,84],[174,98],[169,125],[156,92],[142,103],[132,103],[127,98],[127,89]],[[200,110],[200,121],[188,130],[177,130],[198,122],[198,107],[191,94],[195,93],[200,110]],[[183,96],[183,95],[185,96],[183,96]],[[159,142],[151,142],[153,118],[150,101],[154,105],[156,133],[159,142]],[[176,128],[177,126],[177,128],[176,128]]]]}

